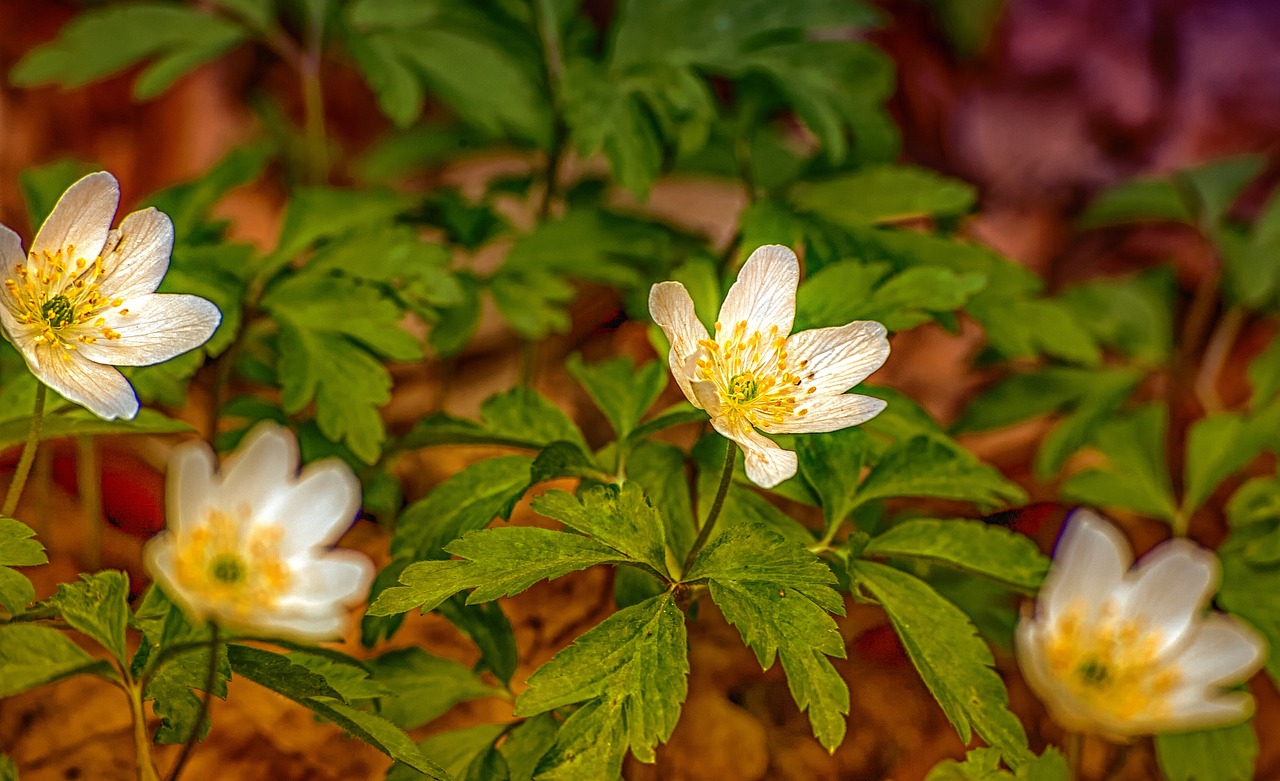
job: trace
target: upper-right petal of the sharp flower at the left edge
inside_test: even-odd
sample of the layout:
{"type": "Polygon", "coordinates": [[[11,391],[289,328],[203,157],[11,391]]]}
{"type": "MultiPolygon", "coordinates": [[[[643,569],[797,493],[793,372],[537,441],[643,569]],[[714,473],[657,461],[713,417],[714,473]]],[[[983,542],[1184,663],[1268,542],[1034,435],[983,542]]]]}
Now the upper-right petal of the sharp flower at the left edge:
{"type": "Polygon", "coordinates": [[[100,289],[108,298],[134,298],[156,292],[173,252],[173,221],[161,211],[143,209],[120,223],[108,238],[100,289]]]}

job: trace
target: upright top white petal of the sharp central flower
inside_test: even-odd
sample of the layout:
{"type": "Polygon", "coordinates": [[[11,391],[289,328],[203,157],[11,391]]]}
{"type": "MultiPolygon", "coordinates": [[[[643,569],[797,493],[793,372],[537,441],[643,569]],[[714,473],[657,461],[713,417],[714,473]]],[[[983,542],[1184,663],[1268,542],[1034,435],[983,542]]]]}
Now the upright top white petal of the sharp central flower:
{"type": "Polygon", "coordinates": [[[781,245],[760,247],[742,264],[737,280],[724,296],[721,325],[732,332],[745,320],[749,332],[768,333],[771,325],[777,325],[778,334],[791,333],[799,284],[800,261],[795,252],[781,245]]]}

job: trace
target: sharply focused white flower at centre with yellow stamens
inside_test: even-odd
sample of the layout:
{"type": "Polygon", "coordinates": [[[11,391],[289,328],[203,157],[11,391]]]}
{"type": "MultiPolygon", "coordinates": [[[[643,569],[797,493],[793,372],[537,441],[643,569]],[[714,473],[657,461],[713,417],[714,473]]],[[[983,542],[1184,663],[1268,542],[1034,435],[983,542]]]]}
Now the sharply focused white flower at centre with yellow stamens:
{"type": "Polygon", "coordinates": [[[859,320],[791,334],[800,264],[781,246],[751,254],[730,288],[716,338],[678,282],[649,292],[649,314],[671,342],[671,373],[716,430],[742,447],[746,476],[772,488],[796,474],[796,455],[763,437],[835,431],[876,417],[884,402],[845,390],[888,357],[884,326],[859,320]],[[788,335],[790,334],[790,335],[788,335]]]}

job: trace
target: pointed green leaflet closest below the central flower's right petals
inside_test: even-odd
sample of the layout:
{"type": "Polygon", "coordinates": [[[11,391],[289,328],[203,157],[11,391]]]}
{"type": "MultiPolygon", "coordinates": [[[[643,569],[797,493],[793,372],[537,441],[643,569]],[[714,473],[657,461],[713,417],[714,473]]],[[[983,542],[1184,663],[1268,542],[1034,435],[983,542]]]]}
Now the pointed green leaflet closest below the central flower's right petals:
{"type": "Polygon", "coordinates": [[[966,451],[933,437],[913,437],[886,451],[855,494],[855,506],[893,497],[934,497],[979,507],[1023,504],[1027,492],[966,451]]]}

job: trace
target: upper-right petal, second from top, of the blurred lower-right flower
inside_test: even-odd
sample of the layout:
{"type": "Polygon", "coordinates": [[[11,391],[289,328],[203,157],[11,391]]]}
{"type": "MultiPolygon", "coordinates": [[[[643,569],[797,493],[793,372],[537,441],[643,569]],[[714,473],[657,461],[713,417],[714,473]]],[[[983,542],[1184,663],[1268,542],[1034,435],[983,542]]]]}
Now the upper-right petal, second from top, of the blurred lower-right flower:
{"type": "Polygon", "coordinates": [[[1217,557],[1196,543],[1171,539],[1144,556],[1125,577],[1126,618],[1161,627],[1158,653],[1178,647],[1217,590],[1217,557]]]}

